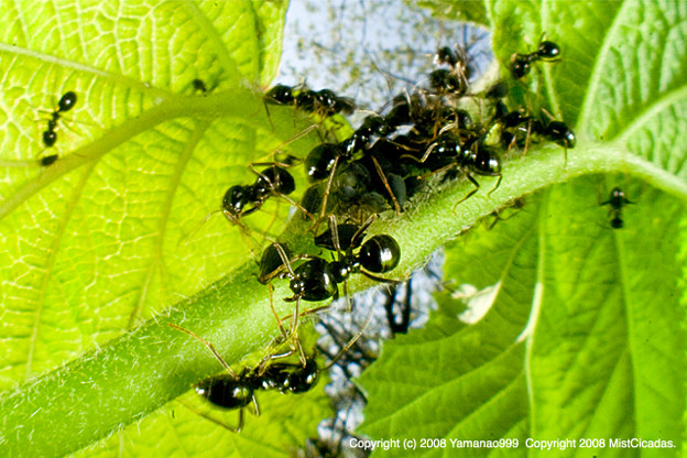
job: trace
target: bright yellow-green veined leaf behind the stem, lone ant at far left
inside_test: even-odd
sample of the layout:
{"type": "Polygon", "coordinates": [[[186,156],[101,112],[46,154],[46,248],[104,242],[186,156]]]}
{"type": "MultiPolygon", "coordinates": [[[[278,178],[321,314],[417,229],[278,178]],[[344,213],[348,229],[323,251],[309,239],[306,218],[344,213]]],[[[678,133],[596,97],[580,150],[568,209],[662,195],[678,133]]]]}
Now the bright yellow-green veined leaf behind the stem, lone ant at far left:
{"type": "MultiPolygon", "coordinates": [[[[219,208],[230,185],[254,179],[248,163],[302,129],[291,110],[275,109],[268,119],[255,90],[276,73],[285,3],[130,1],[113,7],[95,1],[0,7],[8,24],[0,37],[7,75],[0,385],[8,393],[240,265],[237,260],[249,253],[240,231],[220,216],[199,222],[219,208]],[[210,94],[195,94],[194,78],[204,80],[210,94]],[[50,116],[43,111],[56,109],[67,90],[77,94],[77,103],[59,121],[54,150],[62,157],[43,168],[36,161],[50,116]]],[[[159,341],[166,346],[165,337],[159,341]]],[[[192,339],[185,345],[199,346],[192,339]]],[[[211,364],[215,372],[221,369],[211,364]]],[[[175,377],[176,368],[163,366],[151,369],[164,391],[160,378],[175,377]]],[[[87,373],[81,383],[89,385],[87,373]]],[[[91,390],[106,390],[90,383],[91,390]]],[[[135,382],[120,373],[111,380],[113,393],[122,384],[135,382]]],[[[120,402],[126,397],[121,393],[120,402]]],[[[313,401],[303,397],[265,405],[262,424],[276,425],[272,455],[303,444],[326,415],[321,388],[309,396],[313,401]]],[[[57,412],[74,411],[83,401],[78,395],[48,400],[57,412]]],[[[103,419],[110,416],[115,426],[121,423],[111,413],[115,405],[102,402],[94,410],[103,419]]],[[[236,413],[227,418],[235,424],[236,413]]],[[[62,455],[108,433],[79,428],[80,434],[57,433],[52,440],[50,430],[59,428],[51,423],[57,424],[46,419],[46,428],[36,433],[44,440],[35,441],[42,450],[35,455],[62,455]]],[[[0,443],[7,446],[8,425],[2,429],[0,443]]],[[[214,449],[265,438],[250,428],[237,438],[178,404],[85,454],[119,455],[123,448],[134,456],[153,450],[168,456],[182,447],[201,456],[208,452],[204,444],[210,430],[214,449]],[[176,416],[170,419],[172,411],[176,416]]]]}

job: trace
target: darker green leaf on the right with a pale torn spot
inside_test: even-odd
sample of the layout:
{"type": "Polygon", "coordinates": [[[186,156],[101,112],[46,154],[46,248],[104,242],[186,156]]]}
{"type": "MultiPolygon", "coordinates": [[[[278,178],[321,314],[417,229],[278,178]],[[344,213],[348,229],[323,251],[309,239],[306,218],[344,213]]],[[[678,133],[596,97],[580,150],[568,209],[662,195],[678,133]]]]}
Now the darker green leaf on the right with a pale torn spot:
{"type": "Polygon", "coordinates": [[[521,100],[576,123],[579,145],[626,148],[623,155],[651,162],[654,184],[666,182],[657,190],[624,174],[578,178],[527,196],[524,210],[506,209],[493,230],[477,228],[447,249],[447,279],[482,290],[468,305],[488,312],[469,327],[454,320],[388,344],[361,381],[371,400],[363,432],[446,438],[445,448],[421,450],[433,456],[452,456],[449,439],[506,438],[519,439],[516,450],[460,451],[548,456],[525,439],[569,438],[577,447],[554,446],[556,456],[676,456],[685,432],[684,197],[666,190],[684,187],[685,4],[493,2],[489,11],[503,72],[543,32],[564,50],[563,62],[525,80],[541,96],[521,90],[521,100]],[[633,201],[623,229],[599,206],[613,186],[633,201]],[[390,392],[393,403],[380,395],[390,392]],[[604,441],[580,448],[585,438],[604,441]],[[669,446],[611,447],[632,438],[669,446]]]}

